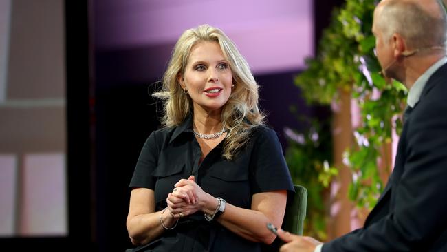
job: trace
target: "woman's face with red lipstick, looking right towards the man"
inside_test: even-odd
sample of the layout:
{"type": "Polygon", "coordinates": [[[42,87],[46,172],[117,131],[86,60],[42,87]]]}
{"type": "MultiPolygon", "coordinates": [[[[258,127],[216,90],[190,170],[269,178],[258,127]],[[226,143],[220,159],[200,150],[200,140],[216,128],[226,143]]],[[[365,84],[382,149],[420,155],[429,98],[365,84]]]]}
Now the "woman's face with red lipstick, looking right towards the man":
{"type": "Polygon", "coordinates": [[[221,112],[231,94],[232,72],[219,43],[202,41],[194,45],[179,83],[188,90],[195,113],[221,112]]]}

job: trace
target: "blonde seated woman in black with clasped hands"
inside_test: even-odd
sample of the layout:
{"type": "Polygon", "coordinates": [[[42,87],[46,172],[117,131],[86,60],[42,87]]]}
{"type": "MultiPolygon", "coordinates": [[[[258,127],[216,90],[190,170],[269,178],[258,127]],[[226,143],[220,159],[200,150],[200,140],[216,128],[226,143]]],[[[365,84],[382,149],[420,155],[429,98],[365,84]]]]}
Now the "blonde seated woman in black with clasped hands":
{"type": "Polygon", "coordinates": [[[281,145],[263,123],[258,85],[226,34],[210,25],[177,41],[154,96],[164,127],[131,179],[129,251],[261,251],[293,191],[281,145]]]}

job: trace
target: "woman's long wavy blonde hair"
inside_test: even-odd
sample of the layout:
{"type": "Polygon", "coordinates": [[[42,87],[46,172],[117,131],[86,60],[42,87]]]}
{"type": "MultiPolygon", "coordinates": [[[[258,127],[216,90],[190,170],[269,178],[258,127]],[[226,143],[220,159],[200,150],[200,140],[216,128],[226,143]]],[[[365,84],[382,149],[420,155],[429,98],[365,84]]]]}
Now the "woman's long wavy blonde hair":
{"type": "Polygon", "coordinates": [[[184,74],[191,48],[201,41],[219,43],[232,71],[235,87],[221,113],[221,122],[228,129],[223,143],[223,157],[231,160],[247,143],[251,129],[264,124],[265,115],[259,110],[259,85],[254,81],[247,61],[219,28],[199,25],[197,28],[186,30],[180,36],[164,73],[162,90],[155,92],[153,96],[163,100],[164,127],[178,126],[193,113],[193,101],[180,86],[178,76],[184,74]]]}

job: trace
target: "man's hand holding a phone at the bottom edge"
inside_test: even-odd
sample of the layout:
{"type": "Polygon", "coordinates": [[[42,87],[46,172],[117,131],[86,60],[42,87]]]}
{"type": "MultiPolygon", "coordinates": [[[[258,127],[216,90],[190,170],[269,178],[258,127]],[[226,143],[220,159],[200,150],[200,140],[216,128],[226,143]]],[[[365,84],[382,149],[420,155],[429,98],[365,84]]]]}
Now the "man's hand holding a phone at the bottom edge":
{"type": "Polygon", "coordinates": [[[280,252],[314,252],[321,242],[309,236],[294,235],[283,229],[278,229],[278,237],[286,242],[279,249],[280,252]]]}

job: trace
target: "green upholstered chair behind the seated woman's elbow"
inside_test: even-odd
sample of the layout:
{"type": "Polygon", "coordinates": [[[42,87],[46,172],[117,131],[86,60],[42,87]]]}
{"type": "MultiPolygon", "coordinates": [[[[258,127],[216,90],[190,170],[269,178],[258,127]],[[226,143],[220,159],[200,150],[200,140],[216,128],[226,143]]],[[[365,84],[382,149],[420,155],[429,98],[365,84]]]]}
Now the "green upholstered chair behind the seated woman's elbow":
{"type": "MultiPolygon", "coordinates": [[[[282,229],[296,235],[303,235],[303,224],[306,218],[307,209],[307,189],[301,185],[294,185],[295,193],[287,196],[285,214],[282,229]]],[[[270,245],[263,245],[263,252],[278,252],[279,247],[284,244],[282,240],[276,238],[270,245]]]]}

